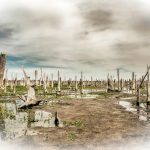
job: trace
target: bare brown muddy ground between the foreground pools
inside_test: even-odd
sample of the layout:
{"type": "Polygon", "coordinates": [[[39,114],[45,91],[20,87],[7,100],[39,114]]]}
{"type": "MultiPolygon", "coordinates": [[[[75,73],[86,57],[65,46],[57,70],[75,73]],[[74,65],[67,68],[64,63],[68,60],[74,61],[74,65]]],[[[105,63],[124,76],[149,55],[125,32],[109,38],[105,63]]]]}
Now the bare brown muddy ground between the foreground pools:
{"type": "Polygon", "coordinates": [[[26,136],[17,141],[20,145],[35,147],[48,145],[69,148],[85,145],[108,145],[136,139],[141,136],[145,123],[138,116],[117,104],[115,98],[67,99],[41,107],[48,112],[58,112],[64,127],[34,130],[39,134],[26,136]]]}

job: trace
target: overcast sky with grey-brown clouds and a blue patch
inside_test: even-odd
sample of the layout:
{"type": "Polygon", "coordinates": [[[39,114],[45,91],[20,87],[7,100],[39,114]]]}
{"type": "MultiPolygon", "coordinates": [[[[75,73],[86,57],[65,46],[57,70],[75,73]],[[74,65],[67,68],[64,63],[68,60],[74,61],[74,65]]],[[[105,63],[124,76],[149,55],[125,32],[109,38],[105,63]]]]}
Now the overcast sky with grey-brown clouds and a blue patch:
{"type": "Polygon", "coordinates": [[[0,0],[0,51],[11,71],[144,72],[149,8],[148,0],[0,0]]]}

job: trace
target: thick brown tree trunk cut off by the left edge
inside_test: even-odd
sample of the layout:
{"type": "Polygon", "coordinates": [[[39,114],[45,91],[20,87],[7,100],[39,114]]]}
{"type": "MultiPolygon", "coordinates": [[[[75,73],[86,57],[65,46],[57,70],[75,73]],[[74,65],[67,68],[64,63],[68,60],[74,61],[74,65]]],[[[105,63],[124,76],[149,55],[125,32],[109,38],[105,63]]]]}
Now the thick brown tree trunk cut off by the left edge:
{"type": "Polygon", "coordinates": [[[0,55],[0,88],[3,87],[5,64],[6,64],[6,55],[1,53],[0,55]]]}

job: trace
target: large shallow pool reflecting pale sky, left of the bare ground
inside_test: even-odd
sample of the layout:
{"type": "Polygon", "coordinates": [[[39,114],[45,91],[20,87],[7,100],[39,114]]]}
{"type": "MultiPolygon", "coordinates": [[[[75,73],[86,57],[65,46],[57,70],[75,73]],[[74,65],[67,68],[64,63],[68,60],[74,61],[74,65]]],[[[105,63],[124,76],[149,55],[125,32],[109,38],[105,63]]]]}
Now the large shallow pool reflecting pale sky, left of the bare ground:
{"type": "MultiPolygon", "coordinates": [[[[21,101],[0,102],[0,139],[10,140],[24,135],[37,135],[34,127],[55,127],[54,116],[43,110],[17,111],[21,101]]],[[[60,127],[63,126],[60,121],[60,127]]]]}

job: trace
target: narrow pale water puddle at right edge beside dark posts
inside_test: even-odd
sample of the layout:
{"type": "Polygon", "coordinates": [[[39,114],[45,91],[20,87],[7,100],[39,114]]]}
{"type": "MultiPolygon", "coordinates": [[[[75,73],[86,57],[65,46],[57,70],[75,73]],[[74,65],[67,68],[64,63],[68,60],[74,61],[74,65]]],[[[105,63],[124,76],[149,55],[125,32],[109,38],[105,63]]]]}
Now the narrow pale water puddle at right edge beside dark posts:
{"type": "Polygon", "coordinates": [[[123,106],[127,111],[137,114],[139,120],[146,122],[150,121],[150,114],[144,103],[140,103],[140,107],[135,107],[131,102],[119,101],[119,105],[123,106]]]}

